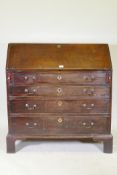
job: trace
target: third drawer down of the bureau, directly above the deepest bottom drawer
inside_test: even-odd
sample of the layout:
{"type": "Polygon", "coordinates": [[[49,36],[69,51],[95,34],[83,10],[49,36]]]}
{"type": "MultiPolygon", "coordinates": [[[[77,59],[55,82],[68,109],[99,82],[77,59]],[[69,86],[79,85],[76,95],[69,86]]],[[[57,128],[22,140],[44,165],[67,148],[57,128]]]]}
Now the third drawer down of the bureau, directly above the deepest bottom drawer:
{"type": "Polygon", "coordinates": [[[11,100],[11,113],[110,113],[109,99],[101,100],[11,100]]]}

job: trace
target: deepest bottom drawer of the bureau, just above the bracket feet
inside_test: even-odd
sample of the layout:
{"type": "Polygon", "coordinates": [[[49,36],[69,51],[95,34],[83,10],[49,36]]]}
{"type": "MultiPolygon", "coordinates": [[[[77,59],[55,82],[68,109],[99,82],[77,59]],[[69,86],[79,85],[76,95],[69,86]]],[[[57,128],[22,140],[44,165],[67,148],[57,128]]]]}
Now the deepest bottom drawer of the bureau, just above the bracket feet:
{"type": "Polygon", "coordinates": [[[28,135],[104,134],[110,118],[88,116],[11,117],[10,132],[28,135]]]}

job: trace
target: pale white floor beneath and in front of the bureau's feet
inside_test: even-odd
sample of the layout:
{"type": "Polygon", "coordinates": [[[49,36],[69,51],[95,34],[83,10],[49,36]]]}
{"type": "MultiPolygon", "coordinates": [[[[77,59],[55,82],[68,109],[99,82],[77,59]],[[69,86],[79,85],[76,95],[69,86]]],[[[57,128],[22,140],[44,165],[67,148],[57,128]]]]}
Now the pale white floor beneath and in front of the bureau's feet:
{"type": "Polygon", "coordinates": [[[117,131],[113,130],[112,154],[103,153],[102,143],[80,141],[17,141],[16,153],[6,153],[6,131],[1,130],[2,175],[116,175],[117,131]]]}

